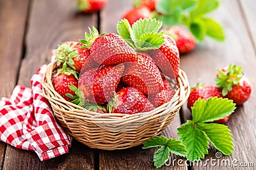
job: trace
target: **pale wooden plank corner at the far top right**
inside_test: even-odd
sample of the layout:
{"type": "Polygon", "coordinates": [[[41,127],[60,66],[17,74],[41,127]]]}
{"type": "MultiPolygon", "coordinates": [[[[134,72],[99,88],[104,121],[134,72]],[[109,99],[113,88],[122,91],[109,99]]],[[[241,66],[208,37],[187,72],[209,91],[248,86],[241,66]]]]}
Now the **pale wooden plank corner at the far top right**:
{"type": "Polygon", "coordinates": [[[247,0],[247,1],[238,1],[239,5],[241,6],[243,10],[243,15],[244,15],[244,22],[246,22],[246,25],[248,26],[247,30],[249,33],[250,38],[253,41],[255,53],[256,53],[256,1],[253,0],[247,0]]]}

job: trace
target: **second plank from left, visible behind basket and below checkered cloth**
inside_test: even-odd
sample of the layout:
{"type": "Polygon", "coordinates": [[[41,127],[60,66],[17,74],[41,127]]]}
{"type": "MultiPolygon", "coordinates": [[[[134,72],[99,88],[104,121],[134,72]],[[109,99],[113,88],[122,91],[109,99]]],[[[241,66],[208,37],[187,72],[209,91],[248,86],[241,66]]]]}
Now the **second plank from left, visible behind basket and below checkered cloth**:
{"type": "MultiPolygon", "coordinates": [[[[51,49],[67,40],[83,38],[88,27],[97,27],[97,15],[77,14],[72,0],[40,1],[31,4],[26,55],[22,60],[19,85],[30,86],[30,78],[42,64],[50,60],[51,49]]],[[[33,152],[6,149],[4,169],[94,169],[93,150],[73,142],[70,153],[40,162],[33,152]],[[21,168],[20,168],[21,167],[21,168]]]]}

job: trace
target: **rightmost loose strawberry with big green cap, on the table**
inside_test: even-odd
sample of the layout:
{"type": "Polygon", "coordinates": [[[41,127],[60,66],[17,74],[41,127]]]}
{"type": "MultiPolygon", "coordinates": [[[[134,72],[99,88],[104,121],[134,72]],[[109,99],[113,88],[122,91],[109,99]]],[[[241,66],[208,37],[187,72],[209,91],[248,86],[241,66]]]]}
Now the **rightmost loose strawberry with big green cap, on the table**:
{"type": "Polygon", "coordinates": [[[243,74],[242,67],[230,64],[229,67],[218,70],[215,79],[216,85],[222,89],[222,95],[236,104],[243,104],[252,93],[252,85],[243,74]]]}

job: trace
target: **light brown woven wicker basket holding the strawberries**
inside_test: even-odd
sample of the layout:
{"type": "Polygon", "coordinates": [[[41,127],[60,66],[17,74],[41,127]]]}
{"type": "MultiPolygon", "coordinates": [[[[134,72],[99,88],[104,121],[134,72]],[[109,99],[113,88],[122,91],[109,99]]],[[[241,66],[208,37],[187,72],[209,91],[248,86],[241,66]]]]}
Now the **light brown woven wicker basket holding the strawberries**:
{"type": "Polygon", "coordinates": [[[189,96],[188,78],[184,71],[180,70],[173,101],[147,113],[96,113],[65,101],[54,90],[52,71],[55,67],[54,62],[47,66],[42,78],[43,94],[51,104],[54,116],[61,126],[73,138],[90,148],[117,150],[141,145],[166,129],[189,96]]]}

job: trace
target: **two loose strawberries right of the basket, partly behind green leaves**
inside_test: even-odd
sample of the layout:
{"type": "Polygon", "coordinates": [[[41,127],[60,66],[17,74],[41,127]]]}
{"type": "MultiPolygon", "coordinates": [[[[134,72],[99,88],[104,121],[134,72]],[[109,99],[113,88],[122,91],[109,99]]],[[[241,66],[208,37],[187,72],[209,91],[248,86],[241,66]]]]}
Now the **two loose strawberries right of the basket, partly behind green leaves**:
{"type": "MultiPolygon", "coordinates": [[[[226,97],[233,100],[237,105],[243,104],[250,98],[252,85],[244,76],[241,66],[230,64],[228,67],[219,69],[215,78],[216,86],[198,84],[194,87],[188,98],[188,108],[191,110],[197,99],[209,99],[211,97],[226,97]]],[[[214,122],[224,124],[230,115],[214,122]]]]}

